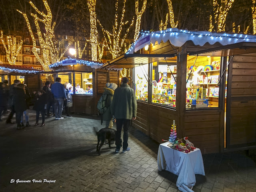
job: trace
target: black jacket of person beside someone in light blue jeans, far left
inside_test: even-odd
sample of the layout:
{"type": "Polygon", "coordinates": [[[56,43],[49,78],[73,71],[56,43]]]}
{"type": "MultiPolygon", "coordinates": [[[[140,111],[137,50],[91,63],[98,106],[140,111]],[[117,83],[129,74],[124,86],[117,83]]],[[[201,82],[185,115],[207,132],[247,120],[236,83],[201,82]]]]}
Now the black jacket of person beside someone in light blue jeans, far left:
{"type": "Polygon", "coordinates": [[[24,90],[15,89],[13,94],[13,105],[16,112],[23,112],[27,109],[26,99],[29,96],[24,93],[24,90]]]}

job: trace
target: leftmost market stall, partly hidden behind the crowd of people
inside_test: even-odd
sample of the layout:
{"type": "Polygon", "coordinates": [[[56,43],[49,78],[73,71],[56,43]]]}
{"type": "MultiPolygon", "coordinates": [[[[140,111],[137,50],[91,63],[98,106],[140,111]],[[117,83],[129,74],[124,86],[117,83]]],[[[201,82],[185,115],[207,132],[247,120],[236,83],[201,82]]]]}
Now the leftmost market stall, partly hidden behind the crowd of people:
{"type": "Polygon", "coordinates": [[[11,85],[14,80],[18,79],[28,86],[31,94],[34,90],[41,88],[41,78],[38,72],[42,72],[42,70],[28,66],[0,64],[0,82],[8,80],[11,85]]]}

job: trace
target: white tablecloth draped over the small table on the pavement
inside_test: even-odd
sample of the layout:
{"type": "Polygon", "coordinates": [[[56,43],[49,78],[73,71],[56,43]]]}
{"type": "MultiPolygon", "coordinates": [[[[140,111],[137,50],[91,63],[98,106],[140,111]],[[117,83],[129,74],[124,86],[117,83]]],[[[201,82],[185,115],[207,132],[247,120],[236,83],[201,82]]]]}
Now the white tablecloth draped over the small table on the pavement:
{"type": "Polygon", "coordinates": [[[200,149],[196,148],[189,153],[180,152],[167,146],[169,142],[162,143],[158,148],[158,170],[167,170],[176,175],[176,186],[180,191],[192,192],[196,184],[195,174],[205,175],[204,163],[200,149]]]}

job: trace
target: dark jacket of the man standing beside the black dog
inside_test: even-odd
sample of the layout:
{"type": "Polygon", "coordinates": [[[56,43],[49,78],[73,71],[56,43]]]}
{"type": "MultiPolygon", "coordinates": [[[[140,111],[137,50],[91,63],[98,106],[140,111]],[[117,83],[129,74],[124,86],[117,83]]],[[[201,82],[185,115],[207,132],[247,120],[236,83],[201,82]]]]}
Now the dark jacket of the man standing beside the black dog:
{"type": "Polygon", "coordinates": [[[137,101],[132,88],[126,83],[116,88],[112,100],[112,114],[116,119],[132,119],[137,114],[137,101]]]}

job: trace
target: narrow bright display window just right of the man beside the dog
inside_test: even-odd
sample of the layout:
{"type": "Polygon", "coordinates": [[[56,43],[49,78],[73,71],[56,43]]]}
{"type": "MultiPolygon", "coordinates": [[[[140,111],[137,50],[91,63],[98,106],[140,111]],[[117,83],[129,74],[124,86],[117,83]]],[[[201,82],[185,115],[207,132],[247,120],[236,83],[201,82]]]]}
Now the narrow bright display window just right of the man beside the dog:
{"type": "Polygon", "coordinates": [[[148,65],[135,67],[134,74],[136,99],[148,101],[148,65]]]}

